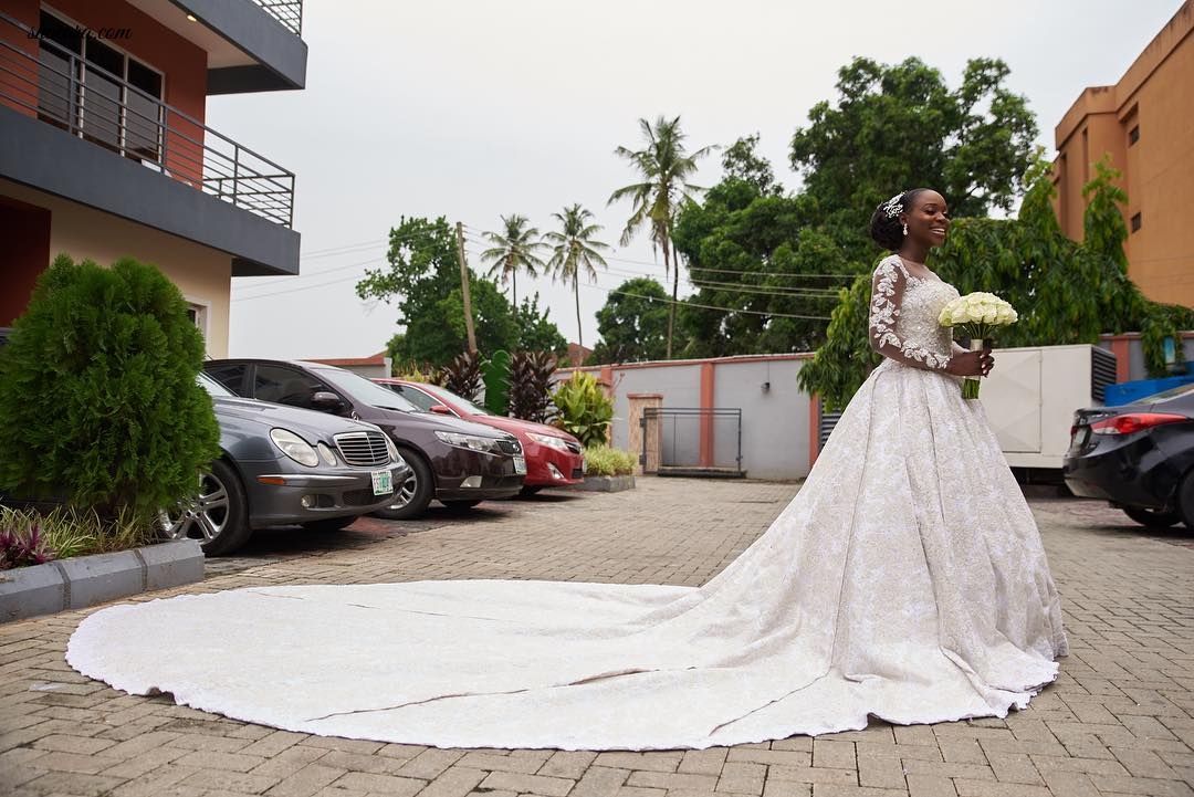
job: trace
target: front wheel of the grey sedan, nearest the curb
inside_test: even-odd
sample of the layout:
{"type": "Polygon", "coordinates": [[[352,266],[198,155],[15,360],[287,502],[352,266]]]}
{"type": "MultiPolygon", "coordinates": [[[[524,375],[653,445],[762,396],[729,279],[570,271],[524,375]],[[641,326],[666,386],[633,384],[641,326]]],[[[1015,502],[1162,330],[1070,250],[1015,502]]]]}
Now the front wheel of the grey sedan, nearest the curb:
{"type": "Polygon", "coordinates": [[[230,554],[252,536],[248,502],[236,470],[216,459],[199,474],[199,489],[177,506],[159,513],[161,533],[168,539],[197,539],[208,556],[230,554]]]}

